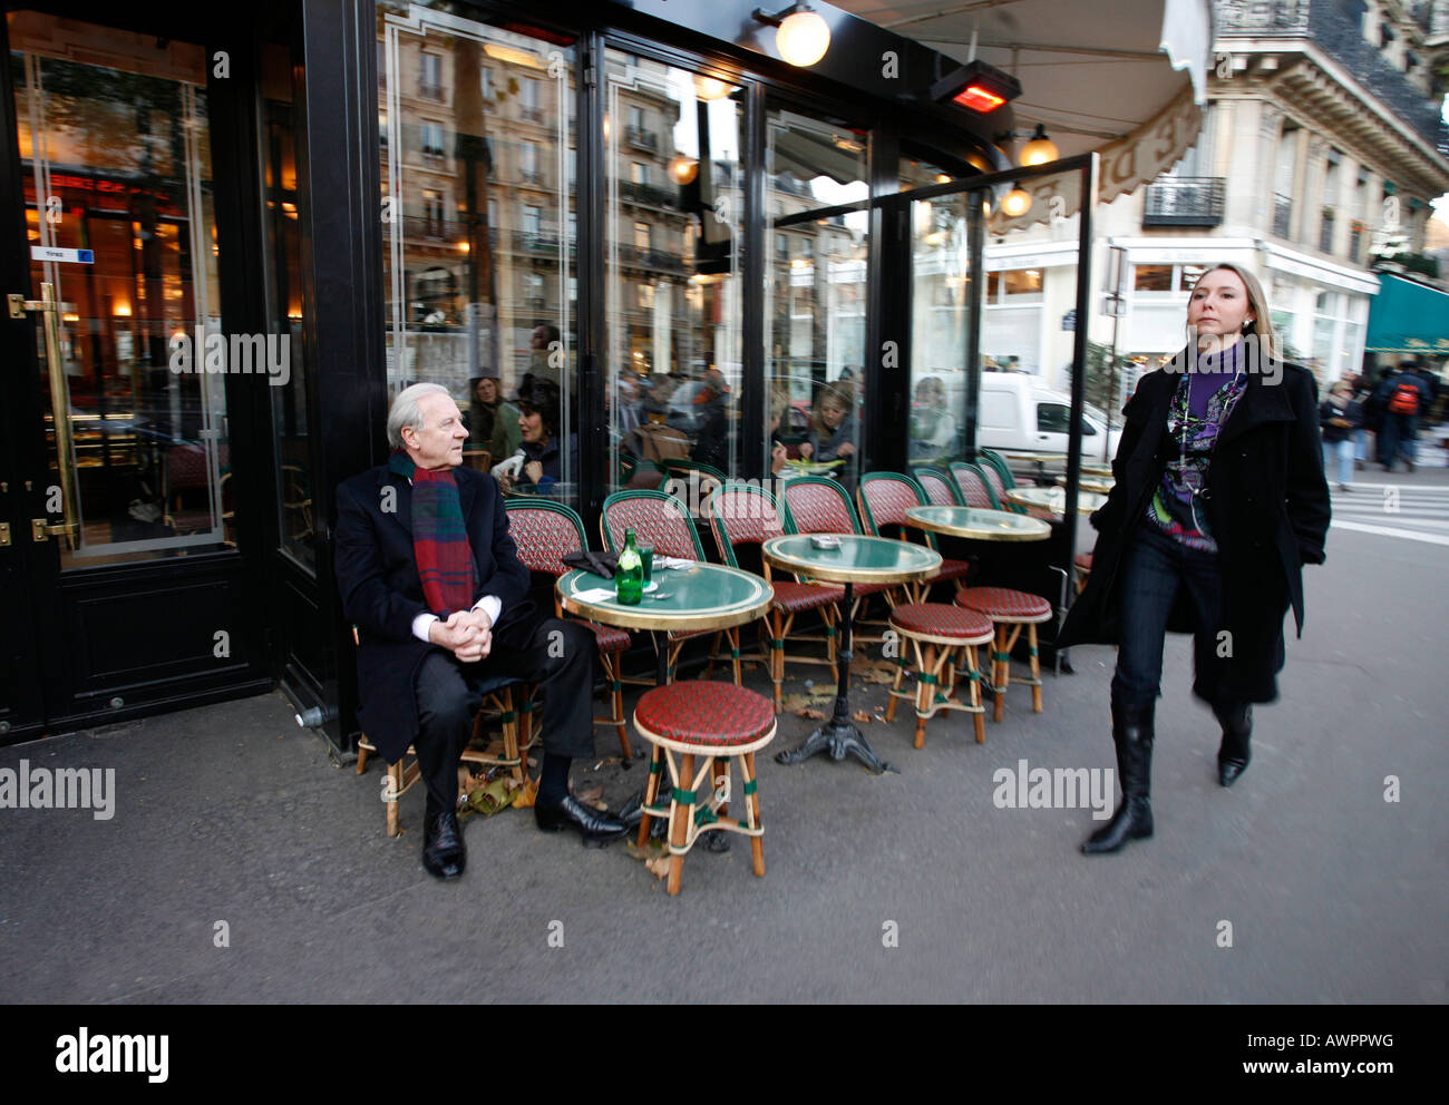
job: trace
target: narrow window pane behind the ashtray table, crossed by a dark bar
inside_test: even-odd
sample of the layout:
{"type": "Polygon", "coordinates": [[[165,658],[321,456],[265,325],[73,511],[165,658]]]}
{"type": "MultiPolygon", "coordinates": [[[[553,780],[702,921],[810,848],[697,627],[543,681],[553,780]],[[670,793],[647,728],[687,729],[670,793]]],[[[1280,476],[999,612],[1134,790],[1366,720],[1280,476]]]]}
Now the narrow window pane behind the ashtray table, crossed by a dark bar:
{"type": "Polygon", "coordinates": [[[869,138],[781,110],[769,113],[767,133],[767,462],[777,474],[819,468],[853,491],[867,364],[869,138]]]}

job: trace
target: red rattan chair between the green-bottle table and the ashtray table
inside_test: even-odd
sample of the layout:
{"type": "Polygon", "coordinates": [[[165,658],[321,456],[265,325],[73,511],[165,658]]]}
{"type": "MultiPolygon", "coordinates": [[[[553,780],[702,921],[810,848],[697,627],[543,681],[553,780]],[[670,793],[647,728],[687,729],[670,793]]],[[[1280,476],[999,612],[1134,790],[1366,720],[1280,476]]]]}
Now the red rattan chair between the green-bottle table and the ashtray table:
{"type": "MultiPolygon", "coordinates": [[[[714,532],[714,542],[720,547],[724,563],[730,568],[739,568],[739,560],[735,556],[736,546],[764,545],[771,537],[778,537],[785,532],[775,497],[755,484],[726,482],[710,495],[706,510],[710,517],[710,529],[714,532]]],[[[769,681],[775,686],[775,713],[780,713],[787,660],[791,663],[823,663],[835,668],[836,621],[839,618],[836,602],[845,598],[845,589],[798,581],[777,581],[771,578],[769,563],[762,562],[762,566],[765,581],[775,591],[769,614],[759,621],[769,636],[769,681]],[[819,656],[785,656],[785,639],[796,623],[796,615],[807,610],[817,611],[824,623],[826,657],[823,659],[819,656]]],[[[804,639],[797,637],[797,640],[804,639]]]]}

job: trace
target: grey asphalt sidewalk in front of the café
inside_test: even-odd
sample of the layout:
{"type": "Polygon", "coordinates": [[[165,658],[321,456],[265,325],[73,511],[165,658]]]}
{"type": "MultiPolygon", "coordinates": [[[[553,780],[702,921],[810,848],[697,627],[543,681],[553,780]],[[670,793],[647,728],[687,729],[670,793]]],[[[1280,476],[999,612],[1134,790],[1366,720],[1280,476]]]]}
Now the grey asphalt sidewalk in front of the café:
{"type": "MultiPolygon", "coordinates": [[[[1088,810],[993,801],[1020,760],[1114,766],[1100,646],[1043,676],[1042,714],[1013,688],[984,746],[948,714],[913,750],[903,708],[865,727],[898,773],[761,756],[767,876],[743,840],[697,847],[672,899],[622,844],[516,810],[469,818],[467,873],[435,882],[420,788],[390,840],[381,770],[333,766],[278,694],[4,749],[113,768],[116,805],[0,810],[0,1001],[1443,1002],[1443,572],[1442,547],[1330,533],[1232,789],[1169,637],[1156,836],[1119,856],[1078,853],[1088,810]]],[[[769,752],[813,724],[784,715],[769,752]]],[[[643,783],[643,760],[593,766],[574,783],[611,807],[643,783]]]]}

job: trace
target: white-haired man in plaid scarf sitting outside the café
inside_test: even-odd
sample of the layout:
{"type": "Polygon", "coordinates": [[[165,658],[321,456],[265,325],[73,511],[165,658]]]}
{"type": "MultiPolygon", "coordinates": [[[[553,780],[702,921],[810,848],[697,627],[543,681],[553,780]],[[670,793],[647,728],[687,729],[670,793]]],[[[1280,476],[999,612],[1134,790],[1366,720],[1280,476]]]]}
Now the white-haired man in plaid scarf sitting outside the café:
{"type": "Polygon", "coordinates": [[[396,763],[417,750],[427,807],[423,867],[462,875],[458,757],[488,676],[543,691],[543,769],[535,817],[585,843],[627,833],[568,791],[569,760],[594,755],[596,644],[582,626],[540,617],[493,476],[461,468],[468,430],[448,391],[414,384],[387,416],[385,465],[338,487],[336,573],[359,629],[359,718],[396,763]]]}

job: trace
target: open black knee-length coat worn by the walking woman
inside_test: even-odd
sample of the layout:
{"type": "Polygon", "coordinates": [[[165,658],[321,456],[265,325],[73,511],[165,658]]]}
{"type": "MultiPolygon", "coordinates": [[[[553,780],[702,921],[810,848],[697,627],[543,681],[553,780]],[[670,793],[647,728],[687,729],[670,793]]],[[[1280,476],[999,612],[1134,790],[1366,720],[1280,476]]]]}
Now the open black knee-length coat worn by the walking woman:
{"type": "MultiPolygon", "coordinates": [[[[1329,485],[1323,476],[1317,384],[1298,365],[1279,366],[1279,378],[1248,374],[1248,387],[1219,432],[1208,466],[1208,526],[1223,572],[1224,626],[1232,633],[1223,684],[1193,688],[1208,701],[1277,698],[1274,676],[1284,665],[1282,617],[1291,605],[1301,637],[1301,569],[1324,559],[1329,485]]],[[[1119,640],[1122,556],[1178,449],[1166,430],[1178,379],[1178,372],[1149,372],[1123,408],[1126,426],[1111,462],[1116,484],[1107,503],[1091,516],[1098,530],[1093,571],[1058,634],[1062,647],[1119,640]]],[[[1168,630],[1193,631],[1185,588],[1178,591],[1168,630]]]]}

